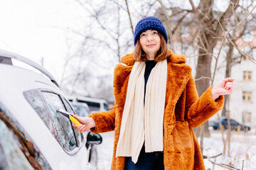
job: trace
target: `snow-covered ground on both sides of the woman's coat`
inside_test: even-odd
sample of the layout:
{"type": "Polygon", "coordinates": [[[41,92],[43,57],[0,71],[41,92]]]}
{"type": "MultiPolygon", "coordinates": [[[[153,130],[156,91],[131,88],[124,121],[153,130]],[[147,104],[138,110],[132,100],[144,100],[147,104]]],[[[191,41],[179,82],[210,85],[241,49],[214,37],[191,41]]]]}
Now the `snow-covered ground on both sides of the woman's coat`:
{"type": "MultiPolygon", "coordinates": [[[[110,170],[114,132],[101,133],[103,141],[101,145],[97,145],[97,167],[92,165],[92,170],[110,170]]],[[[210,130],[210,137],[204,138],[203,155],[213,157],[223,153],[223,140],[219,130],[210,130]]],[[[198,139],[199,141],[199,139],[198,139]]],[[[228,148],[228,145],[227,145],[228,148]]],[[[227,149],[228,151],[228,149],[227,149]]],[[[242,169],[242,160],[244,160],[244,170],[256,170],[256,135],[255,132],[238,132],[233,131],[231,135],[230,157],[228,152],[219,157],[210,159],[218,164],[231,164],[236,169],[242,169]]],[[[213,166],[207,159],[204,159],[206,169],[224,170],[221,166],[213,166]]]]}

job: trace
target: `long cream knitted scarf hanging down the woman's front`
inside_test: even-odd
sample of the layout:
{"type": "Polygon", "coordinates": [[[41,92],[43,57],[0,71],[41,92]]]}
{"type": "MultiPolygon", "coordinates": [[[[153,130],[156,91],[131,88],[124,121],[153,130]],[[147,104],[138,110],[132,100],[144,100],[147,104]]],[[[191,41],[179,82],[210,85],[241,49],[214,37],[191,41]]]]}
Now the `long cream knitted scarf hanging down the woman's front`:
{"type": "Polygon", "coordinates": [[[164,145],[167,61],[157,62],[151,70],[144,103],[145,67],[145,62],[132,67],[117,144],[116,157],[132,157],[134,163],[144,142],[146,152],[163,151],[164,145]]]}

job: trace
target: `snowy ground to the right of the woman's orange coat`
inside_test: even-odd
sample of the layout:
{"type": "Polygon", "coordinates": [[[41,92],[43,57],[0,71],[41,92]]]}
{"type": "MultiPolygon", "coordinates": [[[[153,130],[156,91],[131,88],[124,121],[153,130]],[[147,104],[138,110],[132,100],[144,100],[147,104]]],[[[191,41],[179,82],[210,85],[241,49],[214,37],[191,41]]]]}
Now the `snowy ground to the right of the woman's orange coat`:
{"type": "MultiPolygon", "coordinates": [[[[203,155],[213,157],[223,153],[223,140],[220,131],[210,131],[210,137],[204,139],[203,155]]],[[[225,136],[224,136],[225,137],[225,136]]],[[[198,140],[199,141],[199,140],[198,140]]],[[[215,159],[210,159],[218,164],[230,164],[236,169],[256,170],[256,135],[255,132],[233,131],[230,139],[230,157],[228,157],[228,145],[225,154],[215,159]]],[[[213,169],[213,164],[204,159],[206,169],[213,169]]],[[[214,169],[223,169],[221,166],[214,166],[214,169]]]]}

